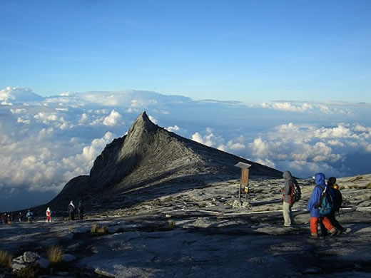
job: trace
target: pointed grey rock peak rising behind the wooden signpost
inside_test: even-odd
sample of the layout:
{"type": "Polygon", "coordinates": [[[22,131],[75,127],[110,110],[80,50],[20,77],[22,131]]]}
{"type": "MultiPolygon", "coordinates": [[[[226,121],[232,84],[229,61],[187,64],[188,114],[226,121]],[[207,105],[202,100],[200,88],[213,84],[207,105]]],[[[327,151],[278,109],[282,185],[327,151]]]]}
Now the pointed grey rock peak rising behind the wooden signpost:
{"type": "Polygon", "coordinates": [[[128,207],[161,196],[164,188],[178,192],[239,177],[240,169],[234,166],[239,161],[252,165],[251,177],[282,176],[273,168],[160,128],[143,112],[127,135],[106,145],[90,175],[74,177],[47,205],[65,210],[70,200],[82,200],[96,210],[128,207]]]}

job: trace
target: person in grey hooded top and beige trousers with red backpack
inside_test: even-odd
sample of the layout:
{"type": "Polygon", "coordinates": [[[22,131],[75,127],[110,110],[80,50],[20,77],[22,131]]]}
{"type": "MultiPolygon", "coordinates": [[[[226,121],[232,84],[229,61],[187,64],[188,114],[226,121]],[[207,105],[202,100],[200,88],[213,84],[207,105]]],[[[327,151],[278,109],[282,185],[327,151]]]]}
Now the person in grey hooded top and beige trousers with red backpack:
{"type": "Polygon", "coordinates": [[[295,224],[293,219],[293,211],[291,207],[293,204],[300,200],[300,187],[295,178],[291,175],[290,171],[283,172],[285,187],[281,190],[283,192],[283,225],[290,227],[295,224]]]}

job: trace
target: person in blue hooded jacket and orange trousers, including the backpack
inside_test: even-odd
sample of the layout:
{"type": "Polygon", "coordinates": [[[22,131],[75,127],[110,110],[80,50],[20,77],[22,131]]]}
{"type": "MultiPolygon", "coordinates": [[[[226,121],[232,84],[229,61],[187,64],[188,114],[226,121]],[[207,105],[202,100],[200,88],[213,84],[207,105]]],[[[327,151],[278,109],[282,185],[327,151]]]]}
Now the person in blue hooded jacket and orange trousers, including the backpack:
{"type": "Polygon", "coordinates": [[[318,223],[322,221],[326,230],[330,232],[330,236],[338,234],[338,230],[331,224],[328,215],[333,207],[333,196],[325,183],[325,175],[323,173],[315,174],[315,187],[308,202],[307,210],[310,211],[310,237],[318,237],[318,223]]]}

